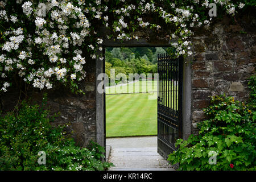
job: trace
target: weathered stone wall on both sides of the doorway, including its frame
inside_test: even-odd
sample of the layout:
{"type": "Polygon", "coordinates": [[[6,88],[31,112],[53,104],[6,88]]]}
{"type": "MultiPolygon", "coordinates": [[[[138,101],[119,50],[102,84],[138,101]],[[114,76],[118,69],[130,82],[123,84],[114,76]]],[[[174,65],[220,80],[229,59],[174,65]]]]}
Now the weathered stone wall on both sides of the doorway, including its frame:
{"type": "MultiPolygon", "coordinates": [[[[209,96],[226,94],[236,100],[246,101],[249,96],[247,79],[255,73],[256,64],[256,21],[247,16],[234,21],[224,17],[208,29],[195,30],[191,41],[194,54],[183,64],[183,107],[182,138],[196,133],[196,123],[204,119],[202,109],[209,105],[209,96]]],[[[104,32],[105,33],[105,32],[104,32]]],[[[137,34],[142,34],[137,32],[137,34]]],[[[145,35],[147,39],[131,42],[104,40],[105,47],[120,46],[168,46],[169,40],[161,35],[145,35]],[[155,38],[159,37],[160,40],[155,38]]],[[[104,51],[104,50],[103,50],[104,51]]],[[[98,52],[99,54],[104,52],[98,52]]],[[[74,131],[73,137],[80,146],[94,140],[105,143],[105,103],[104,94],[97,92],[101,80],[98,74],[104,72],[104,61],[86,59],[86,78],[80,87],[84,96],[77,96],[64,88],[55,90],[28,90],[27,95],[34,101],[40,100],[48,92],[51,114],[60,111],[60,117],[53,126],[70,123],[67,131],[74,131]]],[[[3,112],[13,110],[20,92],[13,88],[0,98],[3,112]]]]}

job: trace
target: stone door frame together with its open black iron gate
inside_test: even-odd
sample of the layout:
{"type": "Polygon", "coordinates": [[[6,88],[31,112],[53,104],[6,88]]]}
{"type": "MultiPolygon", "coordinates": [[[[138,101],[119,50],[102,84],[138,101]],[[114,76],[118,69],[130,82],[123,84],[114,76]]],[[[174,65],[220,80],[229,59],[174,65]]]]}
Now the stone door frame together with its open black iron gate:
{"type": "MultiPolygon", "coordinates": [[[[114,42],[105,40],[98,57],[106,47],[169,47],[168,42],[150,43],[146,40],[114,42]]],[[[96,60],[96,88],[102,86],[105,60],[96,60]]],[[[172,59],[168,55],[158,56],[158,153],[167,159],[176,150],[177,138],[187,139],[191,134],[191,65],[189,60],[172,59]],[[181,83],[181,84],[180,84],[181,83]]],[[[105,88],[103,88],[105,89],[105,88]]],[[[97,143],[106,147],[106,96],[96,93],[97,143]]]]}

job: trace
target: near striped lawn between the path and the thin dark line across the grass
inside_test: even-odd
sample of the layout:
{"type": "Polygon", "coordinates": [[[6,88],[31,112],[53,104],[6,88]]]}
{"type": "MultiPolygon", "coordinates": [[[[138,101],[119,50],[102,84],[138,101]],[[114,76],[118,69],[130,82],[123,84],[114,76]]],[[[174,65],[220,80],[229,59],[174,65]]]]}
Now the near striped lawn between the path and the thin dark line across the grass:
{"type": "Polygon", "coordinates": [[[156,135],[157,101],[149,95],[106,95],[106,137],[156,135]]]}

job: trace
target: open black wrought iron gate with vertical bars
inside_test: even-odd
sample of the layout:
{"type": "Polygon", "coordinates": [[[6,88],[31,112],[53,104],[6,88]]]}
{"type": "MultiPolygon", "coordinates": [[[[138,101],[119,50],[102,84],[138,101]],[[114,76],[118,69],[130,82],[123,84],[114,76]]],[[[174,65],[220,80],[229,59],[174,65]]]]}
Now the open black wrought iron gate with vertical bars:
{"type": "Polygon", "coordinates": [[[158,153],[167,158],[182,138],[183,57],[158,55],[158,153]]]}

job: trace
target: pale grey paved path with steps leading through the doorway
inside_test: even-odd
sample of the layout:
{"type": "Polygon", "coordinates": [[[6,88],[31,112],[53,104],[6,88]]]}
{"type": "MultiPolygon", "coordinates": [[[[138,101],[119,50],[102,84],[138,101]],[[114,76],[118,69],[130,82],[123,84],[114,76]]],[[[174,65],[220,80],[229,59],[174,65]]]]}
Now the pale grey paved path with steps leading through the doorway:
{"type": "Polygon", "coordinates": [[[107,138],[109,171],[174,171],[157,152],[157,137],[107,138]],[[108,147],[109,148],[109,147],[108,147]]]}

